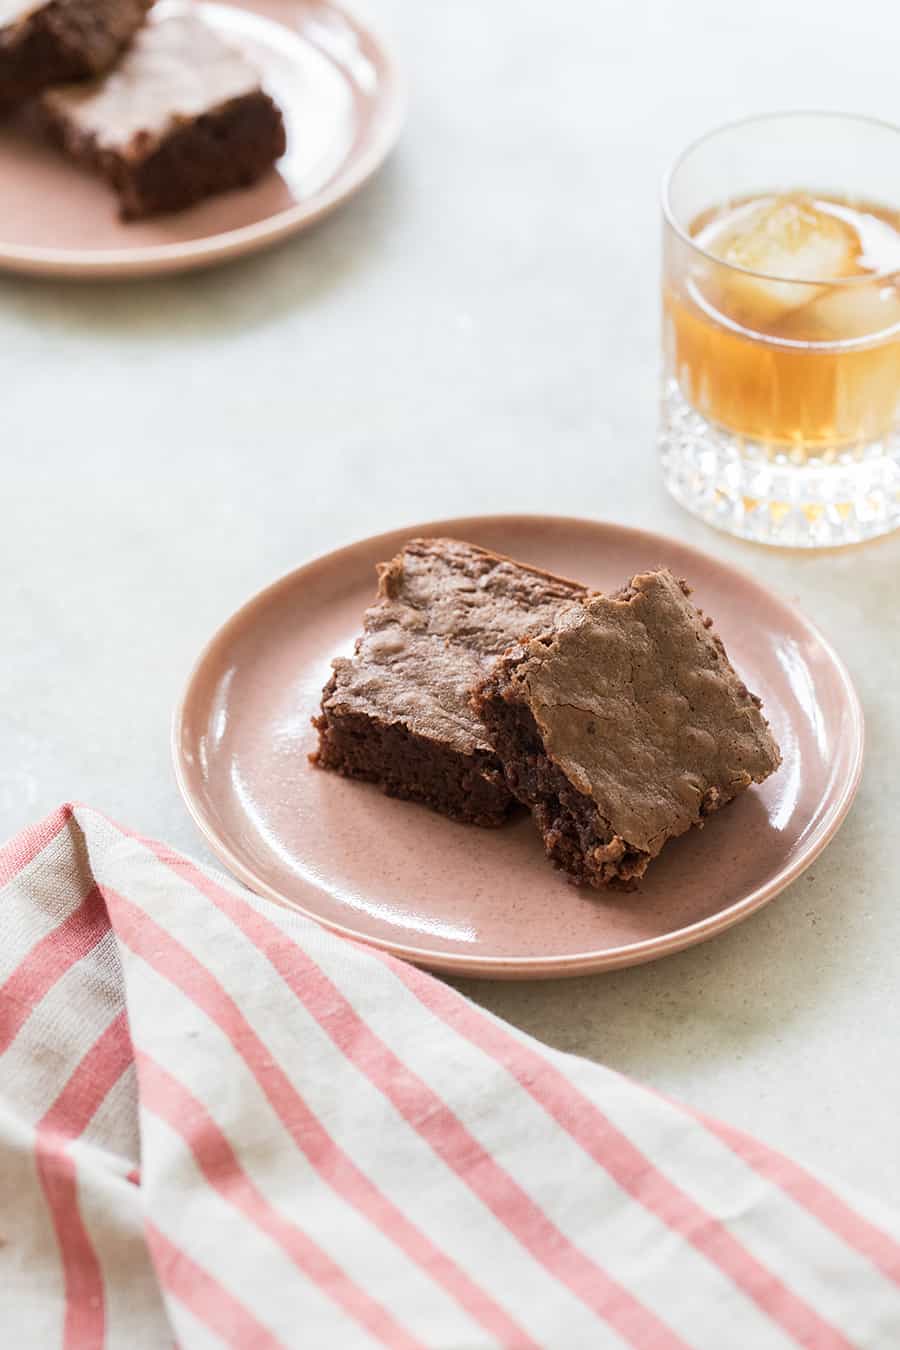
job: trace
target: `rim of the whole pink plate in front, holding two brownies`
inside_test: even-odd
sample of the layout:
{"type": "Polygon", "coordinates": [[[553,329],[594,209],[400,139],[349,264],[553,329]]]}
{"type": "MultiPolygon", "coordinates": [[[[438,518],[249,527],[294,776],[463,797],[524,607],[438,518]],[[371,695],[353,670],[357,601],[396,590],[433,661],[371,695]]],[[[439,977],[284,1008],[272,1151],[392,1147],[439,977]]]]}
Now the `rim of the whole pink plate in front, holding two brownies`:
{"type": "MultiPolygon", "coordinates": [[[[387,556],[387,555],[385,555],[387,556]]],[[[484,979],[555,979],[560,976],[576,976],[576,975],[590,975],[600,971],[622,969],[631,965],[642,965],[648,961],[658,960],[663,956],[669,956],[675,952],[680,952],[687,946],[694,946],[698,942],[703,942],[707,938],[715,937],[723,933],[726,929],[733,927],[742,919],[754,914],[758,909],[766,905],[769,900],[775,899],[787,886],[796,880],[822,853],[824,846],[831,841],[834,834],[841,828],[853,799],[860,787],[860,779],[862,776],[862,761],[865,751],[865,718],[862,713],[862,706],[860,703],[860,697],[855,691],[850,674],[843,664],[842,659],[838,656],[837,651],[828,643],[828,640],[822,634],[822,632],[812,624],[795,605],[789,601],[783,599],[776,595],[765,586],[761,586],[754,576],[742,568],[733,567],[730,563],[723,563],[710,554],[704,554],[699,548],[694,548],[690,544],[684,544],[677,539],[668,539],[664,535],[657,535],[652,531],[640,529],[633,525],[621,525],[615,521],[604,520],[588,520],[586,517],[578,516],[553,516],[548,517],[536,513],[506,513],[506,514],[491,514],[491,516],[460,516],[451,520],[436,520],[425,521],[414,525],[409,525],[401,529],[385,531],[381,535],[370,535],[363,539],[354,540],[349,544],[341,545],[340,548],[332,549],[328,554],[320,554],[317,558],[310,559],[301,567],[296,567],[293,571],[286,572],[278,580],[271,582],[269,586],[263,587],[248,601],[246,601],[235,613],[225,620],[225,622],[213,633],[209,641],[204,645],[200,656],[194,662],[190,671],[188,682],[182,697],[179,698],[173,720],[171,720],[171,759],[175,774],[175,782],[178,784],[178,791],[188,807],[188,811],[204,836],[206,844],[228,868],[228,871],[235,875],[240,882],[243,882],[251,891],[258,895],[264,895],[266,898],[275,900],[287,909],[293,909],[305,914],[306,918],[313,919],[322,927],[329,929],[332,933],[337,933],[341,937],[349,938],[354,942],[363,942],[367,946],[379,948],[383,952],[399,957],[402,960],[410,961],[414,965],[422,965],[433,971],[441,971],[448,975],[467,975],[484,979]],[[572,528],[583,529],[615,529],[619,533],[630,535],[634,540],[641,540],[648,552],[650,547],[658,548],[660,544],[673,544],[683,554],[691,555],[698,559],[699,566],[708,566],[710,562],[715,564],[723,572],[730,572],[738,578],[742,585],[750,586],[752,589],[762,593],[766,599],[773,603],[783,613],[788,614],[795,624],[808,633],[824,652],[831,666],[834,667],[841,686],[846,697],[846,709],[851,718],[851,734],[853,734],[853,760],[850,772],[846,775],[843,784],[837,792],[835,799],[830,805],[827,813],[823,815],[822,821],[816,825],[815,830],[810,834],[808,840],[804,842],[799,855],[773,876],[768,879],[762,886],[758,886],[754,891],[750,891],[741,900],[730,905],[727,909],[721,910],[704,919],[699,919],[696,923],[685,925],[680,929],[673,929],[671,933],[663,934],[661,937],[645,938],[640,942],[630,942],[623,946],[617,946],[613,949],[600,949],[596,952],[579,952],[571,956],[468,956],[464,953],[452,952],[439,952],[421,945],[410,946],[402,942],[391,942],[382,938],[371,937],[367,933],[362,933],[348,925],[337,923],[335,921],[322,918],[314,909],[300,900],[287,896],[278,891],[275,887],[269,886],[264,880],[258,878],[252,868],[247,867],[229,848],[228,841],[223,838],[216,830],[215,825],[209,821],[202,810],[200,799],[192,791],[181,756],[181,734],[184,728],[184,718],[186,705],[200,671],[202,670],[205,662],[210,656],[213,648],[227,637],[232,628],[239,626],[248,613],[254,610],[258,605],[264,603],[273,594],[275,594],[282,587],[289,587],[296,585],[300,576],[305,572],[312,572],[325,564],[333,564],[341,559],[351,558],[360,548],[379,548],[383,545],[389,551],[395,551],[398,547],[398,540],[413,539],[416,536],[424,535],[456,535],[457,537],[466,537],[467,532],[487,531],[491,528],[502,526],[503,524],[510,525],[513,522],[534,524],[545,522],[553,520],[556,525],[569,525],[572,528]]],[[[302,882],[302,888],[316,891],[317,887],[312,882],[302,882]]]]}

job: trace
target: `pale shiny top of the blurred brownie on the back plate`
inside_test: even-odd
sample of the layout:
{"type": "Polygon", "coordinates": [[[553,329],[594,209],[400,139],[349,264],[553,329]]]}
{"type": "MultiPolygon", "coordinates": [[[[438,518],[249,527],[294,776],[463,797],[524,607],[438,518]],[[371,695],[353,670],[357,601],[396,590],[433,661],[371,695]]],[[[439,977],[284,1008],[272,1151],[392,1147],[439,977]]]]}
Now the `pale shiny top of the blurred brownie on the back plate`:
{"type": "Polygon", "coordinates": [[[101,148],[144,155],[169,131],[255,93],[259,74],[192,14],[151,19],[109,74],[43,96],[101,148]]]}

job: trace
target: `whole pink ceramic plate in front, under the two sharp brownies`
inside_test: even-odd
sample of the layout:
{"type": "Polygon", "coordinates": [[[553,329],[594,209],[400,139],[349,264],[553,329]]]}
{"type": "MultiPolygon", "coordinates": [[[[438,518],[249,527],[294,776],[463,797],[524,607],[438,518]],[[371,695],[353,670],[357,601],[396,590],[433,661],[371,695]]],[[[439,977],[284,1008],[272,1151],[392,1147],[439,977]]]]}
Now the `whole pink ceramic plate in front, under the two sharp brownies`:
{"type": "Polygon", "coordinates": [[[275,582],[216,634],[174,722],[174,761],[209,844],[255,891],[422,965],[497,977],[649,961],[721,933],[812,861],[850,806],[862,713],[846,670],[796,610],[671,539],[583,520],[498,516],[416,525],[275,582]],[[312,768],[309,718],[349,652],[375,563],[414,535],[455,535],[611,587],[668,564],[695,586],[762,695],[781,770],[669,844],[630,895],[580,891],[530,819],[455,825],[312,768]]]}

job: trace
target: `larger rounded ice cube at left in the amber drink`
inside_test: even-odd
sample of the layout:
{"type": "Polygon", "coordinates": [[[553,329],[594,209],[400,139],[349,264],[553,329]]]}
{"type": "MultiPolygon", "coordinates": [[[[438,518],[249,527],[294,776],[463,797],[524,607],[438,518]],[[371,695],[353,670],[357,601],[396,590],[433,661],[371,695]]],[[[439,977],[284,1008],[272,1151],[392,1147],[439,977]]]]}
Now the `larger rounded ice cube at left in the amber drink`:
{"type": "Polygon", "coordinates": [[[718,302],[730,317],[762,328],[814,300],[820,293],[814,284],[854,273],[860,255],[853,227],[801,196],[749,202],[708,224],[698,243],[746,269],[716,269],[718,302]]]}

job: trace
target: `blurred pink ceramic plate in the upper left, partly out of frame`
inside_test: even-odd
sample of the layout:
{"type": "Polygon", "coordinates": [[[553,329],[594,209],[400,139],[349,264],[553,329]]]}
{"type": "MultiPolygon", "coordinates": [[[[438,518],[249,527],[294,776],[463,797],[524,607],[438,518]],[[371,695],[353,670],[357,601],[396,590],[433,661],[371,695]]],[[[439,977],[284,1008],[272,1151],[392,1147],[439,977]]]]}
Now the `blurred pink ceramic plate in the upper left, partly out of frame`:
{"type": "MultiPolygon", "coordinates": [[[[192,0],[159,0],[159,14],[192,0]]],[[[65,277],[205,267],[266,247],[344,201],[378,169],[403,117],[385,47],[332,0],[198,4],[256,65],[287,126],[264,180],[189,211],[123,224],[113,193],[24,126],[0,128],[0,266],[65,277]]]]}

